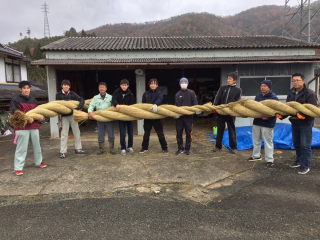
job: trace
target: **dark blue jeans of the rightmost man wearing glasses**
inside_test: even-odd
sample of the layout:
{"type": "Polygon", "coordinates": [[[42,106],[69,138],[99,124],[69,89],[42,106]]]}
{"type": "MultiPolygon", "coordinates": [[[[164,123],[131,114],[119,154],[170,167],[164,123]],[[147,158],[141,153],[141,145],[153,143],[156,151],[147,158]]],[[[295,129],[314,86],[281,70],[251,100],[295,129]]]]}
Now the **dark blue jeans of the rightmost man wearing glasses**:
{"type": "Polygon", "coordinates": [[[296,161],[301,162],[301,166],[304,168],[309,168],[311,163],[312,126],[313,121],[301,125],[291,125],[296,161]]]}

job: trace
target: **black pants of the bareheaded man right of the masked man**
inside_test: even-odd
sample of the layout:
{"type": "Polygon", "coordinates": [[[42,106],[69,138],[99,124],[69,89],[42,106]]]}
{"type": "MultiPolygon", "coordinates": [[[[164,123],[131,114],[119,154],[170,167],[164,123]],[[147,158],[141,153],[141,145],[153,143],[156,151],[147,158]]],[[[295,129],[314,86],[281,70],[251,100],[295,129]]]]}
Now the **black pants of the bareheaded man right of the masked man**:
{"type": "Polygon", "coordinates": [[[216,134],[216,142],[215,142],[215,147],[221,149],[222,148],[222,138],[223,138],[223,132],[225,128],[225,122],[226,126],[228,128],[228,133],[229,133],[229,145],[232,148],[237,149],[237,144],[236,144],[236,133],[235,133],[235,116],[227,116],[227,115],[220,115],[217,114],[217,134],[216,134]]]}

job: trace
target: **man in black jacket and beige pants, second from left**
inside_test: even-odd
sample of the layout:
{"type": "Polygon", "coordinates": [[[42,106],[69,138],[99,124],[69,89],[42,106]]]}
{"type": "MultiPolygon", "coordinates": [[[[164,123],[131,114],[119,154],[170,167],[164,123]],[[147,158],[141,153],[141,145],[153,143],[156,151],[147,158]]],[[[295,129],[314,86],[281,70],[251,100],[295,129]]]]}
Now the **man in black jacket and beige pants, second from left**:
{"type": "MultiPolygon", "coordinates": [[[[75,109],[81,109],[84,105],[84,99],[76,94],[74,91],[70,91],[71,83],[69,80],[61,81],[61,90],[55,94],[55,100],[76,100],[79,101],[79,105],[75,109]]],[[[74,152],[75,153],[86,153],[82,150],[80,129],[77,122],[73,120],[73,110],[69,114],[61,114],[61,140],[60,140],[60,158],[66,156],[66,145],[68,142],[68,133],[71,126],[74,135],[74,152]]]]}

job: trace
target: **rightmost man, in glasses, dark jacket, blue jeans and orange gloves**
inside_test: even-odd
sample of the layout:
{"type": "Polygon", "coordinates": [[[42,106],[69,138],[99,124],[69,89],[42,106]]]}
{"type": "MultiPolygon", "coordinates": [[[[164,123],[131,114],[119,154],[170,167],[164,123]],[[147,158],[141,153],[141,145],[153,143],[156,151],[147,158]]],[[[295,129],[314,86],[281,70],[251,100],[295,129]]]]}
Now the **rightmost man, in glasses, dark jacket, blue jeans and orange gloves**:
{"type": "MultiPolygon", "coordinates": [[[[286,102],[297,101],[301,104],[309,103],[318,106],[318,99],[314,91],[307,88],[304,84],[304,75],[301,73],[294,73],[292,75],[292,85],[286,102]]],[[[276,114],[276,117],[283,119],[287,116],[276,114]]],[[[291,122],[292,140],[295,149],[296,159],[290,167],[300,167],[299,174],[305,174],[310,169],[311,163],[311,143],[312,143],[312,127],[314,117],[307,116],[298,111],[296,116],[289,118],[291,122]]]]}

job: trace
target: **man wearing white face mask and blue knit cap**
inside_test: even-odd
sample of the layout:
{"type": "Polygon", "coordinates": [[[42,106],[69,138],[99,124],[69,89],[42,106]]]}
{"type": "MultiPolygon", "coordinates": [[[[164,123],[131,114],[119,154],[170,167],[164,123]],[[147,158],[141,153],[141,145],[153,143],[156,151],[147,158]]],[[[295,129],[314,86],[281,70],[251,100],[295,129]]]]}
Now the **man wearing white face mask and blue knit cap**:
{"type": "MultiPolygon", "coordinates": [[[[196,94],[193,90],[187,88],[189,82],[188,79],[182,77],[179,81],[181,90],[175,94],[175,105],[176,106],[193,106],[198,104],[196,99],[196,94]]],[[[195,112],[200,114],[200,112],[195,112]]],[[[190,147],[192,140],[192,124],[193,124],[193,115],[177,115],[175,119],[175,129],[176,129],[176,141],[178,144],[178,150],[175,154],[179,155],[185,150],[185,154],[190,155],[190,147]],[[182,133],[183,129],[185,130],[185,146],[183,148],[183,138],[182,133]]]]}

